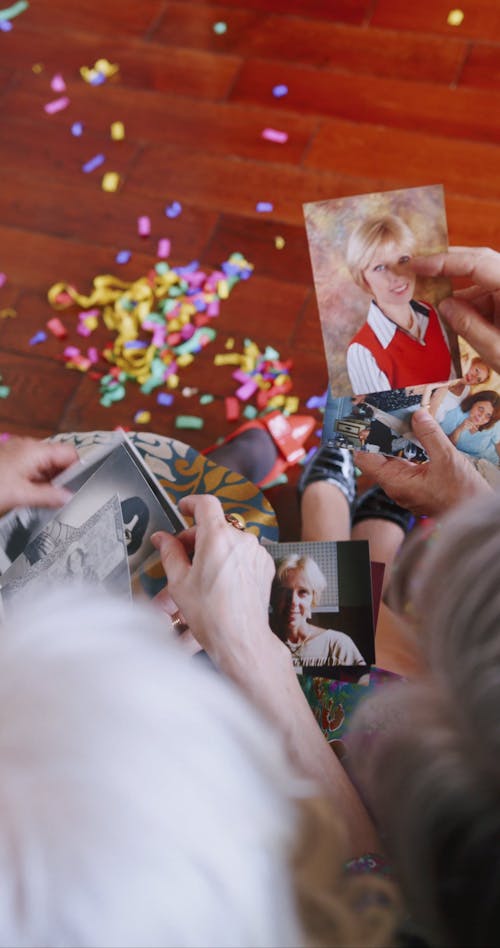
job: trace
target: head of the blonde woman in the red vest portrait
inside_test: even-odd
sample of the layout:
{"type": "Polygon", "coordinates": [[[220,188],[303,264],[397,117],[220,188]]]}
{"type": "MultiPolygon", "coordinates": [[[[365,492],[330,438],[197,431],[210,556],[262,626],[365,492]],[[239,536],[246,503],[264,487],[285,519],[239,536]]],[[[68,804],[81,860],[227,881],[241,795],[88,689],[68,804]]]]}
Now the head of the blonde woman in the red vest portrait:
{"type": "Polygon", "coordinates": [[[415,243],[408,224],[394,214],[362,220],[351,232],[347,266],[354,282],[370,293],[381,309],[412,299],[415,275],[409,263],[415,243]]]}

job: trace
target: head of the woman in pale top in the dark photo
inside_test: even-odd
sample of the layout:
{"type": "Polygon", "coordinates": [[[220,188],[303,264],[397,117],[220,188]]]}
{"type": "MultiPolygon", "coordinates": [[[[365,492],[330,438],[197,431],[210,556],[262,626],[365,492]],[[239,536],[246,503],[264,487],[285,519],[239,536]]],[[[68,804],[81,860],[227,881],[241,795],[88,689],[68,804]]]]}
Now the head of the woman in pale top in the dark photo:
{"type": "Polygon", "coordinates": [[[272,624],[284,641],[307,632],[312,610],[319,605],[326,579],[311,556],[293,553],[280,560],[271,590],[272,624]]]}

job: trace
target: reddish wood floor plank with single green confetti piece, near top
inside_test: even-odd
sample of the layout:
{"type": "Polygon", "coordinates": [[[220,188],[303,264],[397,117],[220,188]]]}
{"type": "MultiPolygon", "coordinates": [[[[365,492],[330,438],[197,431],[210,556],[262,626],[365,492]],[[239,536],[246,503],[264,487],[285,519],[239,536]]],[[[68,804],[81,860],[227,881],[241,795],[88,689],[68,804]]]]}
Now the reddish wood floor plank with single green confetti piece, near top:
{"type": "Polygon", "coordinates": [[[234,53],[248,58],[332,66],[402,79],[453,82],[468,44],[458,36],[421,36],[395,30],[366,29],[339,22],[278,16],[202,3],[171,2],[155,39],[176,45],[234,53]],[[216,20],[227,21],[217,35],[216,20]]]}

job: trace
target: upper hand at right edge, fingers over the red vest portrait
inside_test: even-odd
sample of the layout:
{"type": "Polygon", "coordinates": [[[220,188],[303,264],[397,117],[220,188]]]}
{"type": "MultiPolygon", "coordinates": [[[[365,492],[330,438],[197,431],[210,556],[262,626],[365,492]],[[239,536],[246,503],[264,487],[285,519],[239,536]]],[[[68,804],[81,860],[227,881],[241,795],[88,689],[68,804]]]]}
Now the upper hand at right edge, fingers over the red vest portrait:
{"type": "Polygon", "coordinates": [[[468,277],[472,286],[439,304],[451,328],[500,372],[500,253],[485,247],[450,247],[448,253],[416,257],[421,276],[468,277]]]}

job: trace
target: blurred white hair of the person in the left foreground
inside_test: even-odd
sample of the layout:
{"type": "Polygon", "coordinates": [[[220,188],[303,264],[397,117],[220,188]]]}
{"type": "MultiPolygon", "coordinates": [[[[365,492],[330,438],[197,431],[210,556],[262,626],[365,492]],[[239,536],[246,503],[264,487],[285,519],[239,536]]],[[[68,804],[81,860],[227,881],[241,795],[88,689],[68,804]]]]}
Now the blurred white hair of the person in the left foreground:
{"type": "Polygon", "coordinates": [[[76,588],[6,621],[1,945],[303,943],[281,741],[166,624],[76,588]]]}

